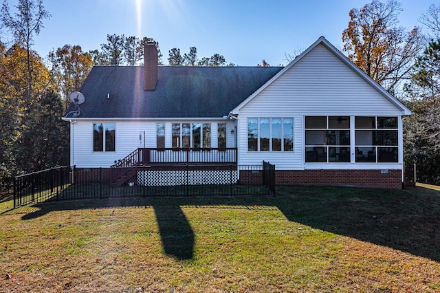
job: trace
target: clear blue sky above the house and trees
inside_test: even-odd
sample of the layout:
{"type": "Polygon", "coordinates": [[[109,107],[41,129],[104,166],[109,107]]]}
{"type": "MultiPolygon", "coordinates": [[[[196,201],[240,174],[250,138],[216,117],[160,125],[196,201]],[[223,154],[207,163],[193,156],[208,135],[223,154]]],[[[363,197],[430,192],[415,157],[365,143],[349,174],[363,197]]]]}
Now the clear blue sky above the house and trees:
{"type": "MultiPolygon", "coordinates": [[[[17,0],[8,0],[10,6],[17,0]]],[[[271,65],[286,64],[285,54],[304,50],[320,36],[342,47],[349,10],[366,0],[43,0],[52,14],[34,39],[43,57],[65,44],[83,50],[100,49],[107,34],[149,36],[159,42],[163,61],[168,50],[198,57],[219,53],[236,65],[254,66],[264,58],[271,65]]],[[[433,0],[401,1],[399,15],[408,30],[433,0]]]]}

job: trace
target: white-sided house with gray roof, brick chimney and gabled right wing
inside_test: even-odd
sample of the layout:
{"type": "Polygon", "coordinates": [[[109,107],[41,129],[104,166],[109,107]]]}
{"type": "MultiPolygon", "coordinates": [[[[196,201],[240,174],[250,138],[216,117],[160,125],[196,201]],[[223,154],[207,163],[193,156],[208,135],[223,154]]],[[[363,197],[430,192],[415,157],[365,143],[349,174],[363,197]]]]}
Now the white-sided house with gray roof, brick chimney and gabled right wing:
{"type": "MultiPolygon", "coordinates": [[[[277,184],[401,188],[404,105],[320,37],[286,67],[94,67],[63,118],[80,168],[276,165],[277,184]]],[[[240,175],[238,175],[240,176],[240,175]]]]}

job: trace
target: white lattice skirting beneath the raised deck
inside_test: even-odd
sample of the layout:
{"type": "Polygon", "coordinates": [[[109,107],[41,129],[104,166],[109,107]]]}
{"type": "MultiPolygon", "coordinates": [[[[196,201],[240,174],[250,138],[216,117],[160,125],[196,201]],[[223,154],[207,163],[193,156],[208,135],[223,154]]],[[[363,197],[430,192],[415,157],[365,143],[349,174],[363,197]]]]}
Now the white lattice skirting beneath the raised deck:
{"type": "Polygon", "coordinates": [[[144,186],[173,186],[199,184],[236,184],[237,171],[137,171],[137,184],[144,186]]]}

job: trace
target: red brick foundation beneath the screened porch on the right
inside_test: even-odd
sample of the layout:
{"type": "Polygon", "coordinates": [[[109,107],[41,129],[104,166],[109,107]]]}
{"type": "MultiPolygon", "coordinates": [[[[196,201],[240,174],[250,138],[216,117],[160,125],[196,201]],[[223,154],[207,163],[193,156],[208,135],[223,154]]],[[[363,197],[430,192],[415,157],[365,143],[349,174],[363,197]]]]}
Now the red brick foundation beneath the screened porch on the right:
{"type": "Polygon", "coordinates": [[[276,184],[401,189],[401,170],[276,170],[276,184]]]}

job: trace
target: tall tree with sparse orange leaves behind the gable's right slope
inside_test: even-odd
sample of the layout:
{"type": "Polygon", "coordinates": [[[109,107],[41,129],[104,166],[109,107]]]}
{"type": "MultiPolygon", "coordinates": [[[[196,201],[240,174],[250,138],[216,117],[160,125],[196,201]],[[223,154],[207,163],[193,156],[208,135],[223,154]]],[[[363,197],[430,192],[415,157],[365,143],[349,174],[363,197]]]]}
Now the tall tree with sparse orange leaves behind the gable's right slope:
{"type": "Polygon", "coordinates": [[[388,91],[410,78],[424,39],[419,28],[406,32],[398,26],[400,4],[373,0],[349,12],[349,26],[342,32],[344,52],[373,80],[388,91]]]}

